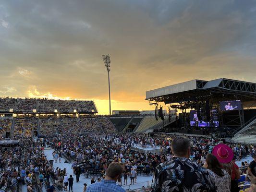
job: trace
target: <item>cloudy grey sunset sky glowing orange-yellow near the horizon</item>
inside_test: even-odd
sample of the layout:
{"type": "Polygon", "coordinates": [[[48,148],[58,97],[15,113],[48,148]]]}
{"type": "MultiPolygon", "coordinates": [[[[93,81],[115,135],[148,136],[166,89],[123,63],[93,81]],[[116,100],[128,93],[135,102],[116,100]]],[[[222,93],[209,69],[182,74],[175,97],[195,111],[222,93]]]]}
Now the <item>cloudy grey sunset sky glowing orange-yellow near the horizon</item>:
{"type": "Polygon", "coordinates": [[[256,0],[0,0],[0,96],[154,110],[146,91],[256,82],[256,0]]]}

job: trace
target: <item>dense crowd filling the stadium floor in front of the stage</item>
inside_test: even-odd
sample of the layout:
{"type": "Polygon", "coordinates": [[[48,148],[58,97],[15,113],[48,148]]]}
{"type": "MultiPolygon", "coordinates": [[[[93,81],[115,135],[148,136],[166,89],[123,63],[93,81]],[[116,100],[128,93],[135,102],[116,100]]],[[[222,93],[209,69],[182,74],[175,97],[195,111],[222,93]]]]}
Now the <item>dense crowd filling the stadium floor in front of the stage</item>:
{"type": "MultiPolygon", "coordinates": [[[[87,119],[91,120],[91,119],[87,119]]],[[[90,124],[91,126],[91,124],[90,124]]],[[[102,131],[102,130],[101,130],[102,131]]],[[[72,131],[65,131],[58,137],[48,137],[50,144],[56,151],[66,154],[75,161],[73,168],[79,164],[86,168],[99,169],[102,175],[106,172],[111,162],[118,162],[124,170],[119,184],[127,185],[127,178],[134,184],[139,172],[146,175],[153,174],[154,169],[160,163],[170,161],[172,158],[171,141],[176,135],[168,138],[152,138],[143,133],[117,133],[115,131],[98,132],[100,134],[77,135],[72,131]],[[72,141],[69,138],[73,138],[72,141]],[[160,147],[159,154],[143,153],[136,149],[160,147]],[[134,171],[135,172],[134,172],[134,171]]],[[[214,138],[189,137],[191,143],[191,155],[193,162],[204,164],[207,154],[211,154],[215,145],[220,141],[214,138]]],[[[244,158],[255,151],[254,145],[228,144],[234,154],[241,154],[237,160],[244,158]]],[[[244,172],[246,173],[246,171],[244,172]]]]}

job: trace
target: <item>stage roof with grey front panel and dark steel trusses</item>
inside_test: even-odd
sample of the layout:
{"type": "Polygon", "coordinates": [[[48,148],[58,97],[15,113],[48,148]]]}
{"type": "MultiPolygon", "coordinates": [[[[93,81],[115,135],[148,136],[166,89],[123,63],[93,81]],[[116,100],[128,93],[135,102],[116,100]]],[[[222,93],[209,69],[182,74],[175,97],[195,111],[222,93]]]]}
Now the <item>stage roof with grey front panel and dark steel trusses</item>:
{"type": "Polygon", "coordinates": [[[146,91],[146,100],[165,102],[165,104],[200,100],[254,101],[256,84],[226,78],[211,81],[191,80],[150,91],[146,91]]]}

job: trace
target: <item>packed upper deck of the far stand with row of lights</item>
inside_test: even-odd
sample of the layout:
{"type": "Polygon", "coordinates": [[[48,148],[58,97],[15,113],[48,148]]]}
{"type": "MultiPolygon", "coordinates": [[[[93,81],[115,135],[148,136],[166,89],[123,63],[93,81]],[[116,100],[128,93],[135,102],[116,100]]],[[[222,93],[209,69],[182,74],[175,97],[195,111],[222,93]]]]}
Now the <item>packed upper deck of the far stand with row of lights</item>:
{"type": "Polygon", "coordinates": [[[98,113],[94,101],[0,98],[1,113],[98,113]]]}

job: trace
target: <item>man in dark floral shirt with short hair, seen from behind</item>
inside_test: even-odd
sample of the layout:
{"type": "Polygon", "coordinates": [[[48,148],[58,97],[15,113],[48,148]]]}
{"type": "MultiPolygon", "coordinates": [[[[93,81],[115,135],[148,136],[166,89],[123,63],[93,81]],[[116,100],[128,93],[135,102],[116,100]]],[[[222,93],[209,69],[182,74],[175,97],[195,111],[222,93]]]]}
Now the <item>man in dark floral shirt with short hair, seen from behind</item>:
{"type": "Polygon", "coordinates": [[[171,151],[174,154],[172,159],[156,168],[152,192],[216,192],[207,169],[189,159],[190,142],[187,138],[175,137],[171,151]]]}

